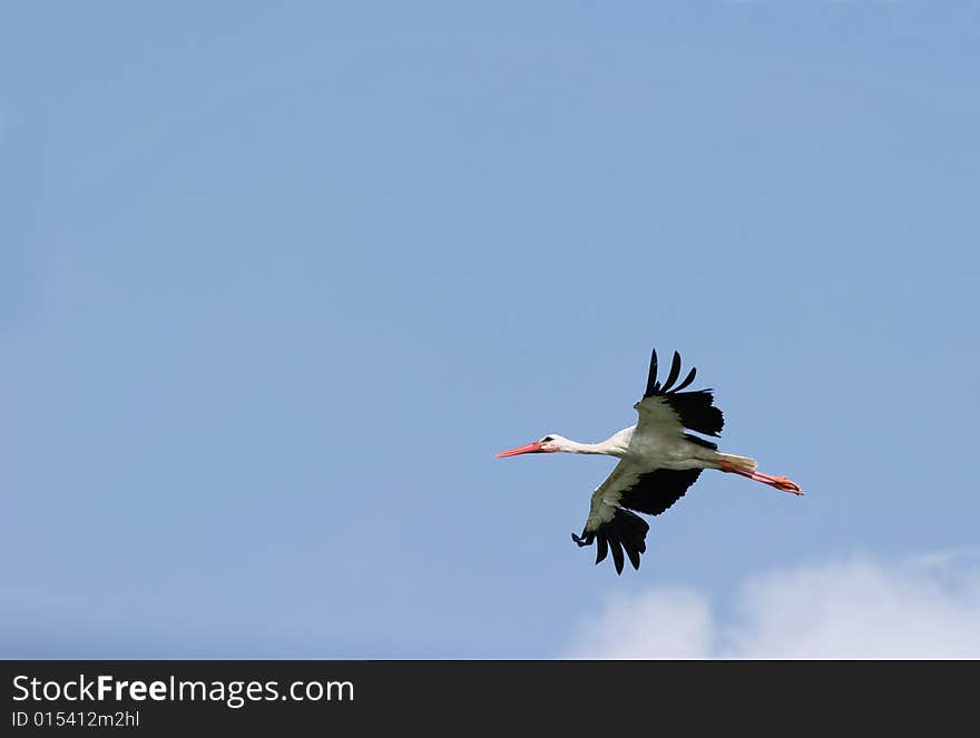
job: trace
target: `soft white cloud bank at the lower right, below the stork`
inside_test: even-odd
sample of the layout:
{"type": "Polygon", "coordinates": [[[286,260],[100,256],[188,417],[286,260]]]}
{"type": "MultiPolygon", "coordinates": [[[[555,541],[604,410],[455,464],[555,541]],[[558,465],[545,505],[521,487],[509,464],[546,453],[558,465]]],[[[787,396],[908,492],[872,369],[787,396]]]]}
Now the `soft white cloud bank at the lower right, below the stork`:
{"type": "Polygon", "coordinates": [[[694,590],[653,588],[581,623],[569,658],[980,658],[980,565],[930,554],[797,567],[742,584],[722,622],[694,590]]]}

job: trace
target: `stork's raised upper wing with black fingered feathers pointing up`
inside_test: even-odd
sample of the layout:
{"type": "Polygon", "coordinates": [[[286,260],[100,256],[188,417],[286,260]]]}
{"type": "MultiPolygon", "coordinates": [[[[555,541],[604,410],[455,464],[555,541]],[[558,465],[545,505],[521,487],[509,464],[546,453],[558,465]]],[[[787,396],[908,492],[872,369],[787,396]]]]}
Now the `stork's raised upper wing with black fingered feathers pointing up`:
{"type": "MultiPolygon", "coordinates": [[[[692,367],[684,381],[674,386],[680,376],[680,354],[675,351],[670,373],[661,385],[657,382],[657,350],[654,348],[647,390],[643,400],[634,405],[639,413],[636,434],[680,436],[684,435],[684,429],[715,436],[722,432],[725,419],[722,411],[713,405],[712,390],[680,392],[694,382],[695,374],[697,370],[692,367]]],[[[692,440],[694,436],[687,437],[692,440]]]]}

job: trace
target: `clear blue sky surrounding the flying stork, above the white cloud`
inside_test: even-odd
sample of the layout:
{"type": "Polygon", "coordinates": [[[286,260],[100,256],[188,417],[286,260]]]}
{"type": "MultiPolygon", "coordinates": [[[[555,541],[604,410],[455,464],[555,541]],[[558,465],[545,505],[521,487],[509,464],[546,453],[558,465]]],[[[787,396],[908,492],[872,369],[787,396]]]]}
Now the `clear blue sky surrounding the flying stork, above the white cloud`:
{"type": "Polygon", "coordinates": [[[659,591],[974,581],[978,28],[7,7],[0,655],[546,658],[659,591]],[[705,474],[617,578],[569,539],[611,460],[493,453],[633,424],[651,346],[807,494],[705,474]]]}

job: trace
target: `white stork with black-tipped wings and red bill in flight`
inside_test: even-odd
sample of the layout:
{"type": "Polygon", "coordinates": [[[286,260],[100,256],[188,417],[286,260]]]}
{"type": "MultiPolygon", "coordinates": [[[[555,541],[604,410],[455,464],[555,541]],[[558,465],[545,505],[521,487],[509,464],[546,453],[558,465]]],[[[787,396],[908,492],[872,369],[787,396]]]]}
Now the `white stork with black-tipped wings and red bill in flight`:
{"type": "Polygon", "coordinates": [[[682,392],[694,382],[693,368],[678,385],[680,354],[674,352],[664,384],[657,381],[657,351],[650,356],[650,373],[643,398],[634,405],[639,422],[625,427],[601,443],[577,443],[549,433],[497,454],[498,459],[526,453],[592,453],[616,456],[619,463],[592,493],[589,516],[580,535],[571,534],[579,547],[596,543],[596,563],[611,551],[616,573],[623,573],[624,551],[634,569],[639,569],[646,551],[649,524],[637,515],[659,515],[684,496],[704,469],[739,474],[783,492],[803,494],[785,476],[756,471],[754,459],[722,453],[718,445],[687,431],[717,436],[725,421],[714,406],[713,390],[682,392]]]}

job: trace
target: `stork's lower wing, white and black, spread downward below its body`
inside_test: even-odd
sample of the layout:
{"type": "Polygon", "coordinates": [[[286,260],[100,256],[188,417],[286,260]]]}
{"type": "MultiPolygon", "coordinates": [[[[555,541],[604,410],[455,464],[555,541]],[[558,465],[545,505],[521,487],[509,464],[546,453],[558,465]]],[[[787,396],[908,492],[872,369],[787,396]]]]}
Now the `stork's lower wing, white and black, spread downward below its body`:
{"type": "Polygon", "coordinates": [[[659,515],[684,496],[700,474],[699,469],[644,471],[620,461],[608,479],[592,493],[589,516],[581,535],[571,534],[579,545],[596,543],[596,563],[612,552],[616,573],[623,573],[624,551],[634,569],[646,552],[649,523],[633,510],[659,515]]]}

